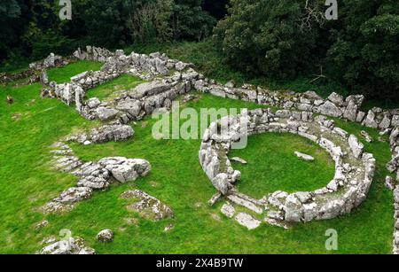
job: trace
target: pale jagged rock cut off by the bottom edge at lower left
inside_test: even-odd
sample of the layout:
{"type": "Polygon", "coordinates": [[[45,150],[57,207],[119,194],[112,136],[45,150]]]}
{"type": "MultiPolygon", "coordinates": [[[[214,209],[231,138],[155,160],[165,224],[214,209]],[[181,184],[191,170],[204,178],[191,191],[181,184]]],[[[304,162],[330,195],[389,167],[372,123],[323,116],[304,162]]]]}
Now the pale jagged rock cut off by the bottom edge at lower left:
{"type": "Polygon", "coordinates": [[[43,247],[39,254],[45,255],[74,255],[95,254],[94,249],[84,245],[84,240],[79,237],[70,237],[51,245],[43,247]]]}

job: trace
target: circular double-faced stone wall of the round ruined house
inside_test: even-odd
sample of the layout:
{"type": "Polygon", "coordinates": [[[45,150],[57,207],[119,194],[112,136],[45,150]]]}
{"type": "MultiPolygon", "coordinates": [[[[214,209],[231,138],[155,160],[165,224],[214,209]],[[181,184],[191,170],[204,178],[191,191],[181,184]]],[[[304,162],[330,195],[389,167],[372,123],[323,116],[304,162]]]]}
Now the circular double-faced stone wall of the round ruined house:
{"type": "MultiPolygon", "coordinates": [[[[288,110],[272,113],[270,109],[259,109],[212,123],[203,136],[199,156],[200,165],[219,192],[216,198],[223,195],[234,205],[265,214],[264,221],[279,225],[284,225],[284,221],[325,220],[350,213],[366,198],[375,171],[375,159],[364,152],[356,136],[335,127],[324,116],[288,110]],[[262,199],[239,193],[234,184],[241,173],[231,166],[228,153],[243,136],[266,132],[292,133],[319,144],[335,162],[331,183],[315,191],[276,191],[262,199]]],[[[231,207],[228,210],[233,214],[231,207]]],[[[236,218],[240,223],[242,216],[241,220],[236,218]]]]}

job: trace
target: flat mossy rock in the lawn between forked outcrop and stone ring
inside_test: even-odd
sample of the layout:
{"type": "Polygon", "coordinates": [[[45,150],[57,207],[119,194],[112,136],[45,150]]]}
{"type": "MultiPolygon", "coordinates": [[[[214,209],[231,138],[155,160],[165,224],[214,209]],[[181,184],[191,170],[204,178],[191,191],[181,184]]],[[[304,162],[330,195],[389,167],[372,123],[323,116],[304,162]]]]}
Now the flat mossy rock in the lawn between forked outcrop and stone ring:
{"type": "Polygon", "coordinates": [[[146,194],[142,190],[125,191],[121,194],[121,198],[134,199],[137,201],[129,205],[128,210],[137,212],[145,219],[159,221],[174,216],[172,209],[161,203],[159,199],[146,194]]]}

